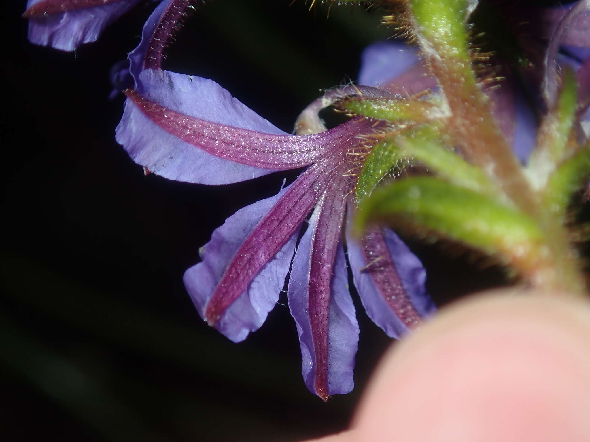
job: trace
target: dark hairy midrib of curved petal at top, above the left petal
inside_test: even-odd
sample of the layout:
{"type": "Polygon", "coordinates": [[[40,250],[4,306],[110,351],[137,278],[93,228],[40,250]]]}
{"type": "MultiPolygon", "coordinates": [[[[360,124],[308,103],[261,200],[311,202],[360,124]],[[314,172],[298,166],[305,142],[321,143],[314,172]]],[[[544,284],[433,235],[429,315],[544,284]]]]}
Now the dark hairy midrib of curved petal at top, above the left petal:
{"type": "Polygon", "coordinates": [[[164,50],[173,31],[181,23],[191,0],[174,0],[163,12],[152,36],[143,59],[143,69],[161,69],[164,50]]]}

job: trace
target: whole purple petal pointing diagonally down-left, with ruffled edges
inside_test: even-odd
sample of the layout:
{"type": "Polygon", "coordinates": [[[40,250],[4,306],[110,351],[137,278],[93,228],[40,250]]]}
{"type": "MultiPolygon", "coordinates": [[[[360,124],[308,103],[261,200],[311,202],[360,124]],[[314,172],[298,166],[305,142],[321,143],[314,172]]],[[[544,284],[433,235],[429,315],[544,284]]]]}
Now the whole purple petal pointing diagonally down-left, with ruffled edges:
{"type": "Polygon", "coordinates": [[[276,197],[238,211],[215,231],[205,246],[204,262],[186,272],[186,287],[202,318],[233,341],[260,327],[276,302],[268,293],[278,296],[283,288],[293,254],[287,261],[284,256],[293,252],[299,227],[325,180],[323,170],[312,166],[276,197]],[[271,266],[279,251],[280,263],[271,266]],[[261,288],[270,283],[265,279],[269,275],[274,282],[261,288]],[[248,308],[253,302],[254,310],[248,308]]]}

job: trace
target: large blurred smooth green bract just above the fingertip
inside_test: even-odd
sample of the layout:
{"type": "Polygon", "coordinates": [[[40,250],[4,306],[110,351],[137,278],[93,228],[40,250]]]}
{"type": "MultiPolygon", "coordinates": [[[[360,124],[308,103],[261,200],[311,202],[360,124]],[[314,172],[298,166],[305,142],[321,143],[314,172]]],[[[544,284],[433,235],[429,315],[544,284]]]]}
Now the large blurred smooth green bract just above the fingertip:
{"type": "Polygon", "coordinates": [[[508,258],[534,256],[543,233],[535,220],[481,193],[435,177],[409,177],[375,189],[356,210],[355,229],[410,222],[424,232],[508,258]]]}

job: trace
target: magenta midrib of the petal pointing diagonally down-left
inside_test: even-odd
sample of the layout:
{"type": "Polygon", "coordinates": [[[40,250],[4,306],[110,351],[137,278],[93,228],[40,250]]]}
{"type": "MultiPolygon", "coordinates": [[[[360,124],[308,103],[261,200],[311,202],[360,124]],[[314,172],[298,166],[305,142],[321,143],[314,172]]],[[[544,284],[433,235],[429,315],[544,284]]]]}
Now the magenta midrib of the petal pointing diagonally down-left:
{"type": "Polygon", "coordinates": [[[315,189],[324,180],[326,180],[326,176],[322,173],[320,166],[314,165],[304,171],[254,227],[253,232],[248,235],[248,238],[235,253],[207,303],[205,317],[209,325],[215,325],[225,310],[240,297],[258,272],[276,255],[301,225],[316,204],[315,189]],[[293,213],[294,209],[296,209],[296,213],[293,213]],[[287,224],[286,219],[289,217],[291,217],[289,228],[275,237],[273,233],[284,227],[287,224]],[[264,235],[266,238],[260,238],[261,230],[264,227],[267,227],[268,233],[264,235]],[[274,240],[271,247],[268,247],[269,238],[274,240]],[[264,244],[266,248],[261,248],[261,244],[264,244]]]}

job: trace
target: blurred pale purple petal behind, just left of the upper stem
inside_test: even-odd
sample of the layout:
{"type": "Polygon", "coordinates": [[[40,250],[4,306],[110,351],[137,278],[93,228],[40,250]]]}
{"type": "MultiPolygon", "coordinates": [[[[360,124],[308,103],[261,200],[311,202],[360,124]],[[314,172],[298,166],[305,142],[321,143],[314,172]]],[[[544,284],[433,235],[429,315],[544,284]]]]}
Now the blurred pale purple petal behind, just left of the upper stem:
{"type": "Polygon", "coordinates": [[[435,89],[437,81],[418,59],[418,48],[402,42],[378,42],[363,51],[359,84],[394,94],[435,89]]]}

